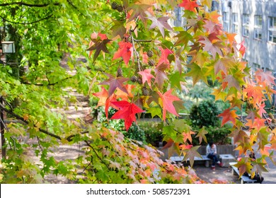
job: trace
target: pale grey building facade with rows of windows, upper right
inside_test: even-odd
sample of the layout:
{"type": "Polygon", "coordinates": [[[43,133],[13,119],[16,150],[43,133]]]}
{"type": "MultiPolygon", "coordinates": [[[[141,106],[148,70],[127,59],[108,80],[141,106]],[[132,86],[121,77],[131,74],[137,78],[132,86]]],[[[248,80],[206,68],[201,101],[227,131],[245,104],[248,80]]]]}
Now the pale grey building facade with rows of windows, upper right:
{"type": "Polygon", "coordinates": [[[219,0],[212,1],[212,10],[222,15],[225,31],[245,41],[243,59],[252,72],[263,69],[276,76],[276,1],[219,0]]]}

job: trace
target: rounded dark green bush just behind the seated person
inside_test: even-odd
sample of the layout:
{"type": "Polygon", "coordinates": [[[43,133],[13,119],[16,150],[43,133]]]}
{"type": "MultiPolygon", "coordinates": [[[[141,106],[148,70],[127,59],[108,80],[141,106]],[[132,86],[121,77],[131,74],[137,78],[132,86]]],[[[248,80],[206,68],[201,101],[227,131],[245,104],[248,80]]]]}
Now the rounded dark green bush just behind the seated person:
{"type": "Polygon", "coordinates": [[[202,101],[199,105],[192,105],[190,120],[192,127],[202,128],[219,125],[219,110],[213,101],[202,101]]]}

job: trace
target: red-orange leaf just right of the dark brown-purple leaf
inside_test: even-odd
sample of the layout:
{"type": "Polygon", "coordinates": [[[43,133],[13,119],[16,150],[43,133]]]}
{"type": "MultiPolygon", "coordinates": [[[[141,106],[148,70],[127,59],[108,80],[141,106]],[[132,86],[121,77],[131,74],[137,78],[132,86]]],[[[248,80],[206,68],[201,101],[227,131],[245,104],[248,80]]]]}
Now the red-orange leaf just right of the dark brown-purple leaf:
{"type": "Polygon", "coordinates": [[[132,44],[130,42],[121,41],[119,42],[119,49],[117,50],[117,52],[115,52],[113,56],[113,60],[122,57],[125,64],[128,64],[128,62],[130,61],[130,57],[132,57],[132,54],[133,54],[132,44]]]}

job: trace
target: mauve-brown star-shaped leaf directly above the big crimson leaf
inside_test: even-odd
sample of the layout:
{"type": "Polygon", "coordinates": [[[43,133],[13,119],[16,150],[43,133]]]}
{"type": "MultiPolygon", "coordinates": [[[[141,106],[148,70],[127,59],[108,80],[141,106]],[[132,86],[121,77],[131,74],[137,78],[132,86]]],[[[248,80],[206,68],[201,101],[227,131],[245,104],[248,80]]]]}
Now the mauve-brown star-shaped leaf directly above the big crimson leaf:
{"type": "Polygon", "coordinates": [[[128,94],[127,89],[122,83],[124,83],[125,81],[128,81],[129,78],[122,78],[122,77],[115,78],[113,75],[107,74],[107,73],[105,73],[105,75],[109,77],[108,80],[103,81],[102,83],[99,83],[99,85],[109,85],[109,89],[108,89],[109,96],[114,93],[116,88],[120,88],[120,90],[128,94]]]}

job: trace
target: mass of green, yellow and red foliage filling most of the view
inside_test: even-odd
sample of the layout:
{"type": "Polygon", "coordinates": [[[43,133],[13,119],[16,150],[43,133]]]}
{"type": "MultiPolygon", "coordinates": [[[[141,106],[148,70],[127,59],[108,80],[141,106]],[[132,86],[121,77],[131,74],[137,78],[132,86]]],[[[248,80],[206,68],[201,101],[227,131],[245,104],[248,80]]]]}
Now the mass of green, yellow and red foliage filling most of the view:
{"type": "MultiPolygon", "coordinates": [[[[267,124],[265,100],[271,100],[275,92],[275,78],[261,70],[251,78],[246,63],[241,62],[243,43],[222,30],[217,11],[207,11],[212,1],[124,0],[116,1],[117,6],[103,0],[6,2],[0,4],[0,15],[21,38],[21,66],[29,68],[19,79],[11,75],[11,66],[0,70],[0,93],[6,104],[0,104],[1,111],[21,121],[5,130],[6,181],[31,182],[33,174],[55,173],[81,182],[202,182],[192,171],[161,161],[153,148],[125,141],[120,132],[102,124],[70,122],[52,112],[53,107],[67,105],[64,88],[68,86],[86,95],[98,89],[93,93],[99,98],[98,106],[105,107],[108,120],[124,120],[126,131],[142,112],[160,117],[167,142],[164,148],[175,148],[192,164],[199,146],[191,146],[195,132],[177,119],[183,102],[176,90],[187,91],[186,78],[192,78],[193,84],[216,81],[215,100],[230,104],[219,116],[222,124],[233,124],[231,136],[240,154],[258,144],[262,157],[253,163],[258,170],[264,168],[265,156],[272,158],[268,148],[276,148],[276,136],[267,124]],[[168,23],[173,17],[168,11],[176,6],[184,9],[185,27],[168,23]],[[90,34],[89,39],[86,35],[90,34]],[[78,62],[76,55],[87,57],[87,47],[93,58],[88,64],[78,62]],[[68,69],[75,69],[76,74],[59,66],[63,53],[68,69]],[[17,107],[8,105],[16,98],[17,107]],[[245,122],[236,115],[243,103],[248,104],[245,122]],[[108,117],[111,107],[117,112],[108,117]],[[272,139],[268,139],[270,134],[272,139]],[[18,138],[26,136],[35,144],[20,144],[18,138]],[[49,156],[54,146],[80,142],[85,153],[77,165],[49,156]],[[40,158],[39,168],[24,158],[30,146],[40,158]],[[78,167],[83,168],[81,180],[78,167]],[[21,171],[29,168],[34,171],[21,171]],[[11,173],[21,177],[8,180],[11,173]]],[[[196,136],[205,140],[203,130],[196,136]]],[[[241,170],[251,168],[248,161],[238,163],[241,170]]]]}

